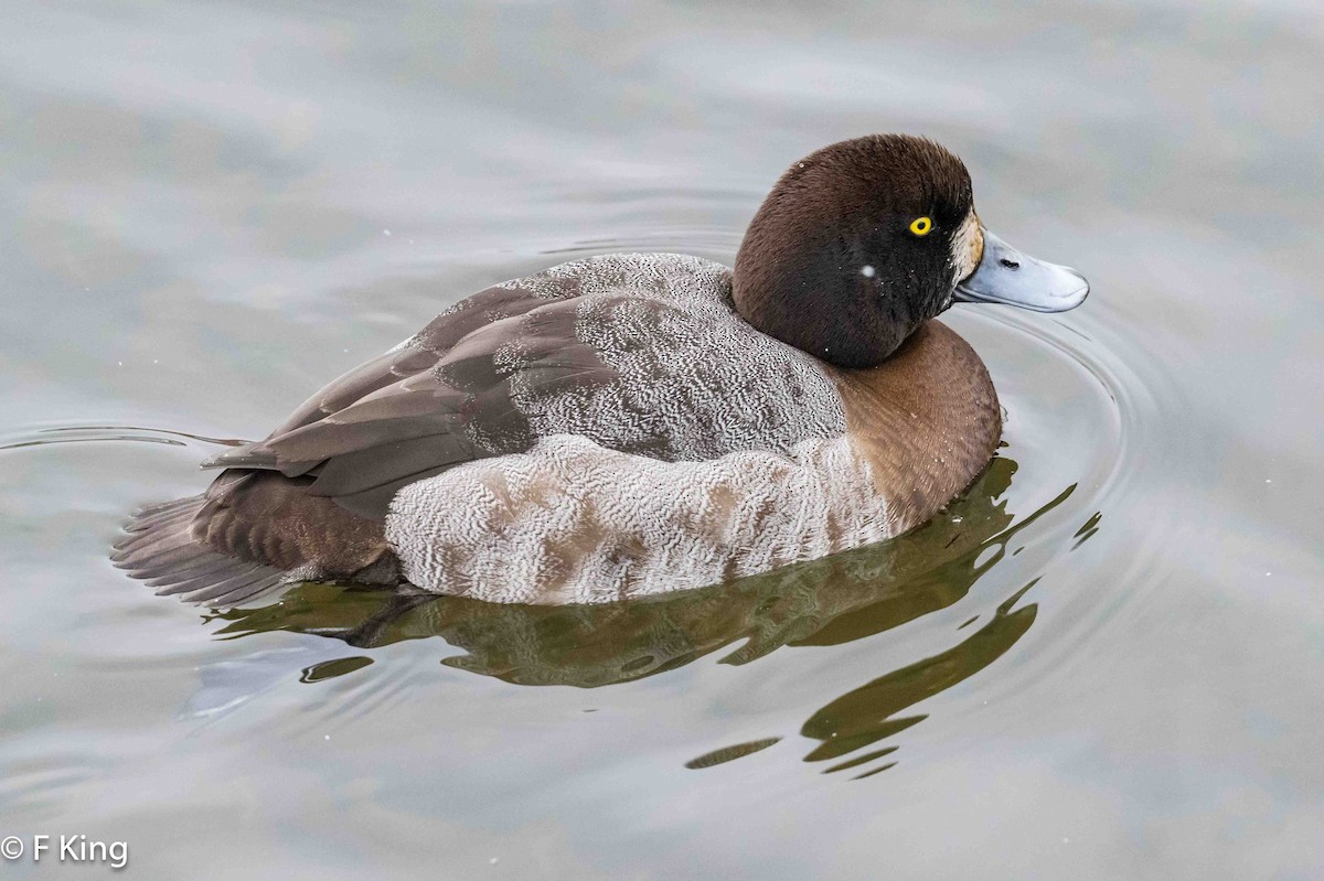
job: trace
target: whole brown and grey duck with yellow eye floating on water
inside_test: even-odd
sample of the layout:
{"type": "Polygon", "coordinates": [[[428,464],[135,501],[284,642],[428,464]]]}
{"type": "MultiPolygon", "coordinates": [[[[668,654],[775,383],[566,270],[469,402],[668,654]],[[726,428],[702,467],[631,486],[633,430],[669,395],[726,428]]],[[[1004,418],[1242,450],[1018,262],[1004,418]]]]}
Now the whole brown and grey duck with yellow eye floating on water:
{"type": "Polygon", "coordinates": [[[1088,291],[989,231],[943,146],[843,140],[792,163],[732,267],[604,254],[462,299],[136,511],[111,558],[211,606],[306,581],[572,605],[880,542],[1001,438],[937,316],[1088,291]]]}

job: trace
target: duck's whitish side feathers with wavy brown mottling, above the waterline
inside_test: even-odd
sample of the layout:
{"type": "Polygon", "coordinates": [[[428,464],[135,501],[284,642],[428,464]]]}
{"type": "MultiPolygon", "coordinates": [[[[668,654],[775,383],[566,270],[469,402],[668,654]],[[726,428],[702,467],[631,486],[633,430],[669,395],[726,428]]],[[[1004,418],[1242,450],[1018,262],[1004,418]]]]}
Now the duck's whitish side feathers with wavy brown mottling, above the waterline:
{"type": "Polygon", "coordinates": [[[410,583],[508,603],[702,587],[892,534],[845,437],[669,463],[553,435],[410,484],[387,517],[410,583]]]}

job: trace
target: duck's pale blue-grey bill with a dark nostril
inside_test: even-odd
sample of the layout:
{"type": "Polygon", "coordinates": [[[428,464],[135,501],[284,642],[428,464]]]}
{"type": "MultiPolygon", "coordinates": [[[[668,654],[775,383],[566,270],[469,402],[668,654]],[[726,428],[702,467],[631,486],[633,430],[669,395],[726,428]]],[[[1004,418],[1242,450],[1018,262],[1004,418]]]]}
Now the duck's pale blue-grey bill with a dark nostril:
{"type": "Polygon", "coordinates": [[[956,299],[967,303],[1005,303],[1035,312],[1066,312],[1084,303],[1090,283],[1074,269],[1022,254],[984,230],[984,258],[964,282],[956,299]]]}

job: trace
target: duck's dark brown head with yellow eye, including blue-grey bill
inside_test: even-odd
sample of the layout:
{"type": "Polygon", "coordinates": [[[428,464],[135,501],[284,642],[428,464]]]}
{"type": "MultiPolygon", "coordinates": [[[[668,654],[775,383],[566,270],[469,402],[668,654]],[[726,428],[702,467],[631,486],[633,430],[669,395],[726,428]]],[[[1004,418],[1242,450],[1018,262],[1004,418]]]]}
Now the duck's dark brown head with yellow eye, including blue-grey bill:
{"type": "Polygon", "coordinates": [[[745,231],[733,286],[747,321],[846,368],[882,362],[955,299],[1061,311],[1088,292],[988,233],[965,164],[910,135],[792,164],[745,231]]]}

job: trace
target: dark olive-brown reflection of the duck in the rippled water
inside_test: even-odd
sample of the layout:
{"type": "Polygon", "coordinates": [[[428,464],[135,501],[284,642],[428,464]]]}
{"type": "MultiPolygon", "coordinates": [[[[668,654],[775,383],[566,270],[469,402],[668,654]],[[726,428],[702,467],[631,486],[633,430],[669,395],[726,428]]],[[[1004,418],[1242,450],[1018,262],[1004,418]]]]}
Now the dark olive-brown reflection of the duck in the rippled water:
{"type": "MultiPolygon", "coordinates": [[[[961,599],[994,566],[1017,532],[1075,488],[1009,528],[1004,497],[1017,466],[996,458],[945,513],[871,548],[788,566],[723,587],[606,606],[506,606],[421,593],[308,583],[279,602],[218,614],[220,636],[269,631],[316,634],[372,648],[441,636],[467,653],[442,663],[522,685],[596,688],[674,669],[736,642],[722,663],[744,664],[782,646],[833,646],[898,627],[961,599]]],[[[902,716],[925,697],[972,676],[1006,652],[1034,622],[1033,605],[1013,610],[1026,585],[955,648],[857,688],[816,712],[805,737],[821,739],[806,761],[870,746],[922,721],[902,716]]],[[[305,671],[316,681],[361,664],[331,661],[305,671]]],[[[708,767],[759,751],[768,738],[700,755],[708,767]]],[[[858,769],[891,750],[833,765],[858,769]]],[[[876,774],[890,765],[865,770],[876,774]]]]}

